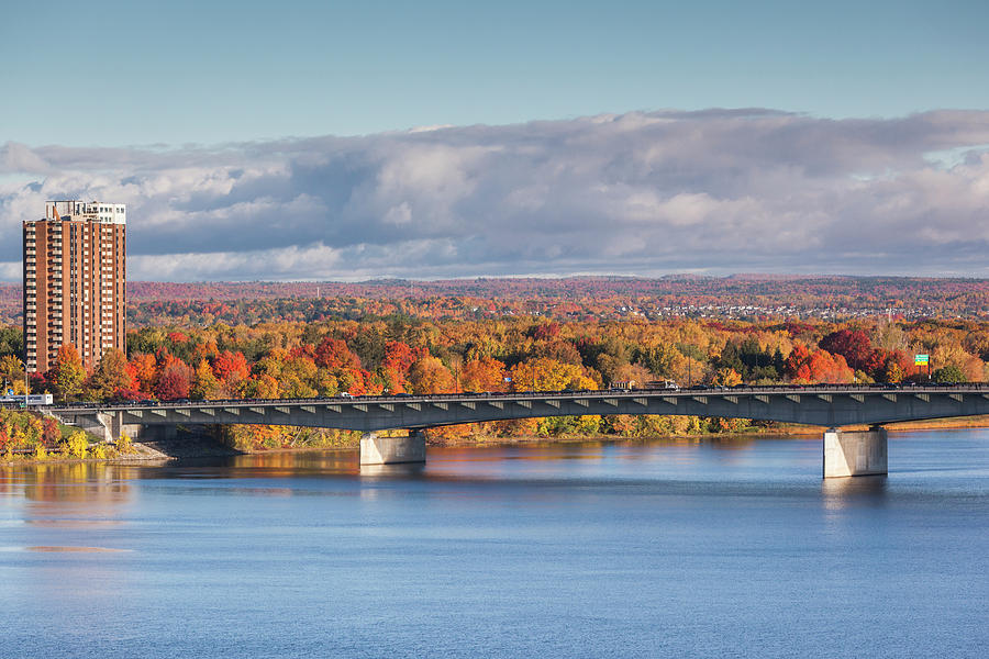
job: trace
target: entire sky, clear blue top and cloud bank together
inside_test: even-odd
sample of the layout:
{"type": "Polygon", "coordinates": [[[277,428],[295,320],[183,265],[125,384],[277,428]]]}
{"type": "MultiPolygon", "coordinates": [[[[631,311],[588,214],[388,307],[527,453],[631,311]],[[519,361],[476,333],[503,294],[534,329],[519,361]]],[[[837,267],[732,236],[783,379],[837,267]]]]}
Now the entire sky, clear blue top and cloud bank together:
{"type": "Polygon", "coordinates": [[[989,3],[4,3],[0,280],[989,276],[989,3]]]}

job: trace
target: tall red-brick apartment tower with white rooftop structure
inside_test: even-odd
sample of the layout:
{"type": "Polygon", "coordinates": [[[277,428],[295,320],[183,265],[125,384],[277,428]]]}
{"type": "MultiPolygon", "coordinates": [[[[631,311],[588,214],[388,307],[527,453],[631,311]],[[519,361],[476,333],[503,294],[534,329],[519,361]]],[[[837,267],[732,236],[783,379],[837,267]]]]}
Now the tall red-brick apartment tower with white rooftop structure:
{"type": "Polygon", "coordinates": [[[107,348],[125,349],[126,208],[48,201],[24,222],[24,347],[30,372],[44,372],[73,344],[86,368],[107,348]]]}

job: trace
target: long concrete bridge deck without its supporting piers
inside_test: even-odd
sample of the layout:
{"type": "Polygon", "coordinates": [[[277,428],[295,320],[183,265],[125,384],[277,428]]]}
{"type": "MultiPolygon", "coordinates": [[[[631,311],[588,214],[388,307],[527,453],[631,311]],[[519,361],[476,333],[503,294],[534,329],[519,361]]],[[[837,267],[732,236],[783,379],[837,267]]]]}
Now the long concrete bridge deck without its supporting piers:
{"type": "Polygon", "coordinates": [[[59,416],[104,414],[120,425],[277,424],[360,431],[585,414],[686,414],[825,427],[989,414],[989,384],[452,393],[293,400],[85,403],[59,416]]]}

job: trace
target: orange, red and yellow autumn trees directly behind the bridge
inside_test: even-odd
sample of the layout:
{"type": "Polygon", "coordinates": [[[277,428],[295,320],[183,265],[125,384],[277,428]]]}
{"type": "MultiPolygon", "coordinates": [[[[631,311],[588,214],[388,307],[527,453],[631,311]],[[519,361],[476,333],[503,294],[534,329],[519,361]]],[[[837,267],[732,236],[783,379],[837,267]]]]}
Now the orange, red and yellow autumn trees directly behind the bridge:
{"type": "MultiPolygon", "coordinates": [[[[23,389],[20,331],[0,330],[0,378],[23,389]]],[[[409,316],[253,325],[146,326],[87,370],[64,345],[33,392],[60,401],[279,399],[381,393],[549,391],[668,379],[711,383],[982,381],[981,321],[547,321],[409,316]],[[930,355],[931,368],[914,365],[930,355]]],[[[723,420],[523,420],[459,432],[723,432],[723,420]],[[689,427],[680,427],[682,424],[689,427]],[[657,424],[659,424],[657,426],[657,424]],[[665,425],[664,425],[665,424],[665,425]]],[[[458,431],[447,431],[458,432],[458,431]]]]}

